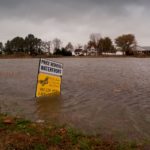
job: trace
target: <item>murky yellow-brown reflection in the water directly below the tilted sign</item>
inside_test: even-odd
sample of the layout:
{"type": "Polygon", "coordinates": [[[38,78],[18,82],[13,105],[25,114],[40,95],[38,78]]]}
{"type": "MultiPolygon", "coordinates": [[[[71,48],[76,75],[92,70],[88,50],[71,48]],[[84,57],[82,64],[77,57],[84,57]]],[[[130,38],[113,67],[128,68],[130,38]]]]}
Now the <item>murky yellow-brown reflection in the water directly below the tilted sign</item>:
{"type": "Polygon", "coordinates": [[[42,120],[57,121],[60,118],[62,96],[52,95],[37,98],[37,115],[42,120]]]}

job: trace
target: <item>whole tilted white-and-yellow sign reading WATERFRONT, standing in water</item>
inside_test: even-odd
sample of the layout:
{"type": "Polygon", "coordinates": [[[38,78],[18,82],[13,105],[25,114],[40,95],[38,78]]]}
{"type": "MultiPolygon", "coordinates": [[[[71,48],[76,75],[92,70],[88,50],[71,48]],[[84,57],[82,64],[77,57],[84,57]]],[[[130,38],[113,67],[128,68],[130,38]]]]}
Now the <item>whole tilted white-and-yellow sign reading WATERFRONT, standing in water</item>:
{"type": "Polygon", "coordinates": [[[63,65],[41,59],[39,64],[36,97],[60,94],[63,65]]]}

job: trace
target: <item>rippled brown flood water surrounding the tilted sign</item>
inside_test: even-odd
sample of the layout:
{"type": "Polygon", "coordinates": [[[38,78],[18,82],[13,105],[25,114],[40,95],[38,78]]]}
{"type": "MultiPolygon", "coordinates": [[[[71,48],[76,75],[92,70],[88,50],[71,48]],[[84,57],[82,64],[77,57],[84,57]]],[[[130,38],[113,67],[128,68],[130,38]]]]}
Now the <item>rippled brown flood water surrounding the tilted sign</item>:
{"type": "Polygon", "coordinates": [[[0,111],[92,134],[150,138],[150,59],[57,58],[59,97],[35,99],[39,59],[0,60],[0,111]]]}

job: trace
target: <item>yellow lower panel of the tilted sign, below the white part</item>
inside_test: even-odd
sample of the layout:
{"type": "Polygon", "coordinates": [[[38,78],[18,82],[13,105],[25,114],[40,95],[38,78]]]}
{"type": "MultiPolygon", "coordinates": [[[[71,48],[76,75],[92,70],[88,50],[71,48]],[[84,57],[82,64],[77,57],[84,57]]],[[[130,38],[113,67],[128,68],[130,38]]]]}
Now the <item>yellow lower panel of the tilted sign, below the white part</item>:
{"type": "Polygon", "coordinates": [[[36,97],[59,94],[61,90],[61,77],[39,73],[36,97]]]}

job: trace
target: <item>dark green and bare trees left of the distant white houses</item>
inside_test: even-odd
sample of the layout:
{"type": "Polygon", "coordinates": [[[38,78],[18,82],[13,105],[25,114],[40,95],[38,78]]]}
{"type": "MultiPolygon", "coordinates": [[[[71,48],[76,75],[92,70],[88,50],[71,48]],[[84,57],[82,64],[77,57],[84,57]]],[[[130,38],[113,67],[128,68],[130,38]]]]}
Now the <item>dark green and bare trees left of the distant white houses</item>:
{"type": "Polygon", "coordinates": [[[28,34],[25,38],[15,37],[8,40],[4,45],[0,42],[0,53],[5,55],[12,54],[26,54],[26,55],[52,55],[52,48],[54,55],[71,56],[71,51],[68,51],[71,43],[62,48],[60,39],[55,38],[53,41],[42,41],[42,39],[35,37],[33,34],[28,34]]]}

